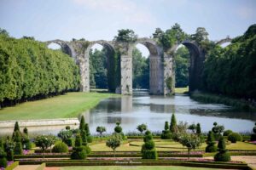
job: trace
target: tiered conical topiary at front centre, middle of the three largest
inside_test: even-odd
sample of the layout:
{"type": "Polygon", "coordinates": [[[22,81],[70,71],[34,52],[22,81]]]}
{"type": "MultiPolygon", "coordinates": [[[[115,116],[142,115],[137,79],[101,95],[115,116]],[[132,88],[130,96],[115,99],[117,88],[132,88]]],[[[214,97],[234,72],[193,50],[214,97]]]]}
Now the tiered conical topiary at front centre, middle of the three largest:
{"type": "Polygon", "coordinates": [[[158,159],[158,154],[154,148],[154,141],[150,131],[145,133],[143,141],[144,144],[141,150],[143,159],[158,159]]]}

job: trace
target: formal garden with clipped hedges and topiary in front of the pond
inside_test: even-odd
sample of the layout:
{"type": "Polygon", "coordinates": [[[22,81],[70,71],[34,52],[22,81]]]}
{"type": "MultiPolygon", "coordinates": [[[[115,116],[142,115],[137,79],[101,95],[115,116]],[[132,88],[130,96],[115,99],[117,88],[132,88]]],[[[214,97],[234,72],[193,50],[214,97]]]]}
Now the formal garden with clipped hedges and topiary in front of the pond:
{"type": "Polygon", "coordinates": [[[106,134],[106,127],[99,126],[98,135],[91,135],[81,116],[78,129],[67,126],[57,136],[30,138],[29,129],[20,129],[16,122],[12,136],[0,140],[0,165],[5,169],[19,165],[38,165],[39,169],[79,166],[252,169],[246,162],[233,161],[230,156],[256,156],[256,124],[252,134],[224,130],[217,122],[211,131],[202,133],[199,123],[177,123],[172,114],[171,122],[163,127],[162,133],[153,133],[146,124],[140,124],[137,133],[125,134],[121,123],[116,122],[112,134],[106,134]]]}

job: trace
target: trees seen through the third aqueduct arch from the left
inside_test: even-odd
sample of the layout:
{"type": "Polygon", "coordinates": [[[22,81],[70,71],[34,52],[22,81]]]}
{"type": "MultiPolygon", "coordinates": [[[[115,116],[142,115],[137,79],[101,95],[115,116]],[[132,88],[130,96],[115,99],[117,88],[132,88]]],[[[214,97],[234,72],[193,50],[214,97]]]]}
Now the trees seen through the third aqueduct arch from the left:
{"type": "Polygon", "coordinates": [[[132,51],[132,87],[149,88],[149,57],[134,48],[132,51]]]}

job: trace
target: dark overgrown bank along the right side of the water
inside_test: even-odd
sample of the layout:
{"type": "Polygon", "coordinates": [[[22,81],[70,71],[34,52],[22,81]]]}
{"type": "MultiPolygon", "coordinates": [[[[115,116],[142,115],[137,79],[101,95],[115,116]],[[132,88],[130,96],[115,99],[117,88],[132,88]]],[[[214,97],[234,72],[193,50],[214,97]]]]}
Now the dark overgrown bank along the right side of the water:
{"type": "Polygon", "coordinates": [[[195,99],[196,101],[204,102],[204,103],[230,105],[236,108],[236,110],[240,110],[240,111],[256,111],[256,107],[253,106],[250,102],[244,99],[235,99],[225,95],[196,92],[196,93],[190,94],[190,98],[195,99]]]}

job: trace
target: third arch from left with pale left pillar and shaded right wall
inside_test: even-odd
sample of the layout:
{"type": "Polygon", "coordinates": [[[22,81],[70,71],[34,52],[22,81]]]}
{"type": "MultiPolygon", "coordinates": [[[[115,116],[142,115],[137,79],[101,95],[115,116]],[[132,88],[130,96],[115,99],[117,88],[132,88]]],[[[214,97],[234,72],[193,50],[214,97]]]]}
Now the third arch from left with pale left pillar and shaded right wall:
{"type": "Polygon", "coordinates": [[[153,39],[145,37],[138,38],[136,42],[132,43],[128,49],[128,59],[122,59],[122,62],[124,62],[124,60],[129,62],[126,63],[126,65],[131,65],[128,68],[121,69],[122,79],[125,79],[124,75],[129,77],[126,81],[121,80],[121,85],[123,87],[122,94],[131,94],[131,90],[130,92],[127,92],[125,87],[130,87],[132,89],[132,50],[139,43],[143,44],[149,51],[149,94],[164,94],[164,69],[162,65],[163,50],[153,39]]]}

